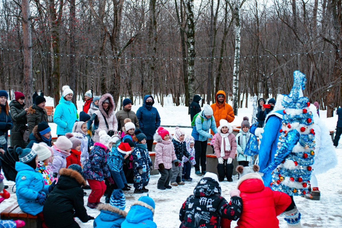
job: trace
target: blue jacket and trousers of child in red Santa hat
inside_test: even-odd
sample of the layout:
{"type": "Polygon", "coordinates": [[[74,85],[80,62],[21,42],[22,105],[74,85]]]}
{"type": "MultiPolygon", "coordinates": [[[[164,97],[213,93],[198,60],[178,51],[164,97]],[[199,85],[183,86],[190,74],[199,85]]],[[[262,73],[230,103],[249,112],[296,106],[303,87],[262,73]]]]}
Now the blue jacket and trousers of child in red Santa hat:
{"type": "Polygon", "coordinates": [[[119,189],[122,189],[127,184],[125,174],[123,173],[124,154],[120,153],[117,148],[111,149],[108,155],[108,167],[113,177],[114,182],[119,189]]]}

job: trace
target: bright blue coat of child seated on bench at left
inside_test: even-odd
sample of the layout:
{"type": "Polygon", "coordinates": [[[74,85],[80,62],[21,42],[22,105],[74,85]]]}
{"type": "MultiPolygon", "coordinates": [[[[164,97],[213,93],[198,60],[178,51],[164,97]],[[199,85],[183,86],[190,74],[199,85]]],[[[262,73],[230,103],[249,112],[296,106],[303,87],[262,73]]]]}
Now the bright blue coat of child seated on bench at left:
{"type": "Polygon", "coordinates": [[[36,202],[36,199],[39,192],[49,193],[49,185],[44,185],[41,173],[36,172],[29,165],[16,162],[15,170],[18,172],[15,178],[15,194],[20,209],[27,214],[39,214],[43,211],[43,205],[36,202]]]}

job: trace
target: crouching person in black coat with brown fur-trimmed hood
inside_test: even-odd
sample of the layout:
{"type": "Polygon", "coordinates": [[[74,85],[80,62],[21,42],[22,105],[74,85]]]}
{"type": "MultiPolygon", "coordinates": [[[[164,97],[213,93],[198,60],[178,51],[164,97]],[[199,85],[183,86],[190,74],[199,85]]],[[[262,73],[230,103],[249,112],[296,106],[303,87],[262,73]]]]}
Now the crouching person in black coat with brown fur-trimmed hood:
{"type": "Polygon", "coordinates": [[[83,189],[86,180],[79,165],[70,165],[60,170],[60,178],[53,191],[48,195],[43,207],[45,224],[49,228],[80,227],[75,217],[83,223],[94,219],[87,214],[83,202],[83,189]]]}

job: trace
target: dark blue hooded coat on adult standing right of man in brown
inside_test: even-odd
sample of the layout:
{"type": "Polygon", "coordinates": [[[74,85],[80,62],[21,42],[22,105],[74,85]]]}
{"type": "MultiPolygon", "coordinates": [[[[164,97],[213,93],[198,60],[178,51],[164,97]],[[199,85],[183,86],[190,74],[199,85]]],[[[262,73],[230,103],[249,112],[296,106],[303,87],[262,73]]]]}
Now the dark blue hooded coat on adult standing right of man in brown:
{"type": "MultiPolygon", "coordinates": [[[[155,107],[152,105],[146,105],[146,99],[152,97],[151,95],[146,95],[144,97],[144,103],[142,107],[139,107],[136,111],[136,117],[139,121],[140,130],[146,135],[146,139],[153,139],[153,135],[156,133],[157,128],[160,126],[160,116],[155,107]]],[[[154,104],[154,99],[152,97],[152,103],[154,104]]]]}

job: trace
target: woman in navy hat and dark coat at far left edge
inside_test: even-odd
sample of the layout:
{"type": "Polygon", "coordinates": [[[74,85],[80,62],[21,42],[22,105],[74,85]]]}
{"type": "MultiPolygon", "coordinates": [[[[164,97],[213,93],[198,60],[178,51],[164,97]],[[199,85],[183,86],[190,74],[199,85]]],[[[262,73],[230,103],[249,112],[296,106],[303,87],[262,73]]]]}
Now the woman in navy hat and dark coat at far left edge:
{"type": "Polygon", "coordinates": [[[7,99],[8,93],[5,90],[0,90],[0,152],[2,154],[7,150],[8,130],[11,130],[13,127],[11,115],[9,113],[10,107],[8,106],[7,99]]]}

